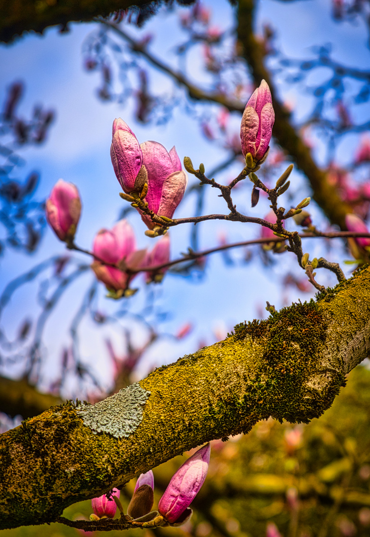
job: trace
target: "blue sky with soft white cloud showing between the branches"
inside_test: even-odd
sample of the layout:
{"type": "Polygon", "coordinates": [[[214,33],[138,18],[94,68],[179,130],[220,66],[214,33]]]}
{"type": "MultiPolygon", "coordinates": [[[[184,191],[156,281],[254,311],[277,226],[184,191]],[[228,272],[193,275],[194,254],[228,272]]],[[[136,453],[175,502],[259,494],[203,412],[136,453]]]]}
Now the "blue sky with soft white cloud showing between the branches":
{"type": "MultiPolygon", "coordinates": [[[[301,58],[309,57],[310,47],[333,41],[333,56],[350,65],[369,66],[364,26],[360,21],[356,24],[335,23],[330,16],[329,0],[306,0],[299,2],[277,2],[262,0],[259,3],[257,27],[270,21],[277,30],[279,47],[287,55],[301,58]]],[[[213,22],[222,29],[233,25],[233,10],[228,2],[221,0],[212,2],[213,22]]],[[[222,162],[226,153],[209,143],[199,132],[195,121],[183,108],[176,110],[173,119],[166,125],[143,126],[135,122],[132,113],[132,101],[126,106],[117,103],[102,103],[97,99],[96,92],[100,84],[99,75],[86,72],[82,66],[81,47],[85,38],[97,30],[96,24],[73,24],[68,33],[59,34],[56,28],[50,28],[42,37],[27,35],[13,45],[0,46],[0,102],[3,102],[5,88],[17,80],[26,84],[26,93],[21,102],[20,112],[28,117],[35,103],[52,107],[57,118],[50,129],[48,141],[39,148],[24,148],[20,154],[26,159],[24,170],[19,170],[24,177],[28,170],[37,169],[41,173],[39,198],[46,197],[57,179],[63,178],[75,183],[83,201],[83,214],[78,227],[77,242],[89,248],[95,233],[102,227],[111,227],[117,219],[124,202],[120,200],[120,190],[114,176],[110,160],[111,127],[115,117],[122,117],[134,130],[140,142],[156,140],[170,149],[176,145],[182,159],[185,155],[193,159],[195,165],[204,162],[207,169],[222,162]]],[[[161,53],[166,61],[175,65],[173,45],[179,40],[179,26],[176,12],[162,11],[149,20],[144,30],[139,32],[128,26],[131,34],[151,32],[155,34],[153,50],[161,53]]],[[[200,83],[207,83],[207,77],[201,75],[199,49],[191,55],[191,74],[199,78],[200,83]],[[203,77],[203,78],[201,78],[203,77]]],[[[154,89],[166,83],[162,75],[151,76],[154,89]]],[[[291,100],[298,109],[299,117],[304,117],[311,103],[310,97],[297,93],[286,84],[280,85],[282,98],[291,100]]],[[[356,141],[353,141],[356,143],[356,141]]],[[[221,174],[217,180],[230,179],[230,173],[237,175],[237,167],[221,174]]],[[[278,175],[277,175],[278,177],[278,175]]],[[[191,178],[192,180],[192,178],[191,178]]],[[[302,193],[301,198],[309,195],[299,173],[294,173],[293,181],[302,193]]],[[[263,216],[267,209],[266,200],[249,213],[250,187],[243,186],[237,193],[238,208],[245,208],[247,214],[263,216]],[[263,205],[264,204],[264,205],[263,205]]],[[[206,212],[225,212],[215,191],[209,189],[207,194],[206,212]]],[[[179,208],[178,216],[190,215],[193,211],[192,200],[188,199],[179,208]]],[[[317,210],[313,207],[314,214],[317,210]]],[[[130,216],[140,246],[153,246],[153,242],[144,236],[144,226],[136,215],[130,216]]],[[[217,244],[221,232],[227,234],[230,242],[246,240],[258,235],[256,226],[245,226],[233,223],[207,222],[201,224],[201,248],[209,248],[217,244]]],[[[171,230],[172,256],[185,251],[188,246],[190,226],[171,230]]],[[[18,253],[10,253],[0,265],[1,287],[14,276],[31,267],[38,260],[55,253],[63,252],[63,245],[58,242],[52,231],[48,231],[37,255],[26,257],[18,253]]],[[[310,253],[322,255],[323,246],[318,241],[310,246],[310,253]]],[[[339,255],[339,252],[338,252],[339,255]]],[[[243,252],[235,252],[234,258],[241,259],[243,252]]],[[[186,352],[197,349],[199,340],[211,344],[215,341],[214,331],[226,333],[232,326],[244,320],[256,317],[264,307],[265,301],[280,307],[283,303],[281,287],[278,285],[281,274],[292,268],[294,263],[291,255],[279,256],[277,263],[265,270],[256,255],[256,262],[249,265],[230,267],[223,263],[220,255],[208,260],[205,277],[190,281],[182,277],[168,275],[162,286],[157,286],[155,293],[158,308],[170,313],[168,320],[161,324],[160,331],[175,333],[185,322],[192,322],[195,329],[192,335],[178,344],[164,343],[156,352],[148,357],[148,363],[168,363],[186,352]],[[157,356],[157,358],[156,358],[157,356]]],[[[78,308],[79,298],[91,282],[92,274],[86,274],[81,282],[75,284],[60,304],[55,316],[50,319],[46,332],[45,343],[48,346],[49,366],[47,375],[53,375],[53,367],[60,357],[60,349],[68,339],[68,320],[78,308]],[[67,338],[67,339],[66,339],[67,338]]],[[[323,276],[327,279],[327,275],[323,276]]],[[[139,278],[138,278],[139,281],[139,278]]],[[[327,281],[334,282],[330,276],[327,281]]],[[[142,285],[140,284],[140,287],[142,285]]],[[[14,295],[11,306],[4,321],[10,333],[14,330],[19,318],[27,317],[34,311],[35,289],[30,286],[26,291],[14,295]]],[[[111,311],[117,304],[111,304],[104,298],[104,289],[100,289],[101,310],[111,311]]],[[[313,295],[314,293],[312,293],[313,295]]],[[[140,291],[132,299],[130,308],[140,311],[146,291],[140,291]]],[[[288,301],[297,300],[301,295],[290,290],[288,301]]],[[[86,322],[82,330],[81,349],[87,361],[93,360],[99,369],[101,378],[108,382],[109,368],[104,367],[105,347],[103,336],[105,329],[98,330],[86,322]]],[[[121,345],[120,330],[109,329],[108,332],[117,345],[121,345]]],[[[140,340],[140,333],[137,336],[140,340]]],[[[144,374],[145,367],[138,373],[144,374]]],[[[15,370],[12,374],[16,374],[15,370]]],[[[46,385],[46,384],[45,384],[46,385]]]]}

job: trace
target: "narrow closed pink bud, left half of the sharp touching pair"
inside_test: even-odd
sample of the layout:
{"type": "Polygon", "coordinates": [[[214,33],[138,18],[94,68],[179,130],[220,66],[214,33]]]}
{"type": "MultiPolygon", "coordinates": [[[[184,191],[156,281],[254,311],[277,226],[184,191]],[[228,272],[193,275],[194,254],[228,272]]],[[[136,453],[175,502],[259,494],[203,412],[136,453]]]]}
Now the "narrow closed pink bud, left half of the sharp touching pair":
{"type": "Polygon", "coordinates": [[[121,118],[113,121],[111,159],[115,175],[126,194],[139,190],[135,185],[143,165],[143,154],[135,134],[121,118]]]}

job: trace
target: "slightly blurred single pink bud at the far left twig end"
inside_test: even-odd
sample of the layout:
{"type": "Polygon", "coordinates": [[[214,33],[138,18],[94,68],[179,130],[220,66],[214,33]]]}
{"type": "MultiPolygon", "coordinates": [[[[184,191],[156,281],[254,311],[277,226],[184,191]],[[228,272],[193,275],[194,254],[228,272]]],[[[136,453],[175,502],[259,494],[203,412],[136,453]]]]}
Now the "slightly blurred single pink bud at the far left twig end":
{"type": "Polygon", "coordinates": [[[75,236],[80,214],[81,199],[77,187],[59,179],[46,200],[46,217],[61,241],[75,236]]]}

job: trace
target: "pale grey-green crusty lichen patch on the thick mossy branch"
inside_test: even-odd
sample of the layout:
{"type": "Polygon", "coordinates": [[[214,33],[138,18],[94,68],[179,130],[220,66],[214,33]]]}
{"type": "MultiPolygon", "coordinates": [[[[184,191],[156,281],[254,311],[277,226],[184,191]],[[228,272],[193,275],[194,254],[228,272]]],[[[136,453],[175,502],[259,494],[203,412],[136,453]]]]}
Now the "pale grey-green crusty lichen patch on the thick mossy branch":
{"type": "Polygon", "coordinates": [[[141,424],[143,407],[149,396],[150,391],[135,382],[104,401],[94,405],[82,404],[76,412],[93,433],[104,432],[115,438],[128,438],[141,424]]]}

